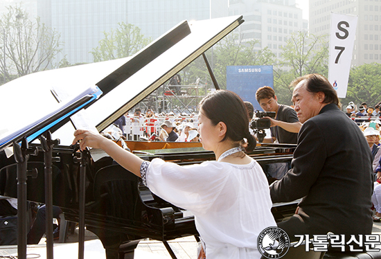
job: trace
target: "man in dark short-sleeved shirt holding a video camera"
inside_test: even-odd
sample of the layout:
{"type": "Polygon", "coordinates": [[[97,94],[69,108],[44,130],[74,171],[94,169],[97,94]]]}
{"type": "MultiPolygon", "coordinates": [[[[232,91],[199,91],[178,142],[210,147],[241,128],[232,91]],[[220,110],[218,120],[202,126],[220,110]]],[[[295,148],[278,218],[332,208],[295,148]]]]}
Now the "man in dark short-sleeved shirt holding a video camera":
{"type": "Polygon", "coordinates": [[[274,111],[275,119],[271,121],[271,138],[265,138],[263,143],[296,144],[298,132],[301,128],[296,112],[289,106],[278,105],[278,99],[271,87],[260,87],[256,91],[256,100],[264,111],[274,111]]]}

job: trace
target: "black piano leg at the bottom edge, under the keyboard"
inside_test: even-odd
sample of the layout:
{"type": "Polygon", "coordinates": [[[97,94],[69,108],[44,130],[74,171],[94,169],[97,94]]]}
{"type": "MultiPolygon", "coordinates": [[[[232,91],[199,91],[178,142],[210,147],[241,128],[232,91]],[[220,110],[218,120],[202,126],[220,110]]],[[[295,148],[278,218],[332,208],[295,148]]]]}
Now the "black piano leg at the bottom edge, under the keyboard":
{"type": "Polygon", "coordinates": [[[134,259],[134,251],[140,240],[128,240],[127,235],[87,226],[87,229],[98,236],[106,250],[107,259],[134,259]]]}

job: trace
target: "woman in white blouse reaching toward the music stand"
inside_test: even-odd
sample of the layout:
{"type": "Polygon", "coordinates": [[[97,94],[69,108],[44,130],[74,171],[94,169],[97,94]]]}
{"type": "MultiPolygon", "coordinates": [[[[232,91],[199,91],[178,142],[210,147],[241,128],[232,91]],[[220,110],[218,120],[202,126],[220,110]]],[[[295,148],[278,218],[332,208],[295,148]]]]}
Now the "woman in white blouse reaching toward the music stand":
{"type": "Polygon", "coordinates": [[[199,123],[202,146],[212,150],[217,161],[191,166],[161,159],[143,161],[100,134],[85,130],[74,133],[73,143],[80,141],[82,150],[105,150],[142,177],[152,193],[191,211],[207,259],[260,258],[258,235],[276,222],[265,174],[244,152],[256,146],[245,104],[236,93],[214,91],[200,102],[199,123]]]}

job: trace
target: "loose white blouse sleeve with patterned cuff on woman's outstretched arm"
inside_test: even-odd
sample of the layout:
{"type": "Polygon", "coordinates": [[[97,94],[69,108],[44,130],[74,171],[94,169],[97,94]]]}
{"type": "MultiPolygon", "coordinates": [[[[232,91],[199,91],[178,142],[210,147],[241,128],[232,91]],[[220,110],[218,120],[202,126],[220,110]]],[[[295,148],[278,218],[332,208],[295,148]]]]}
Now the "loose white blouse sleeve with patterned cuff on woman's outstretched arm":
{"type": "Polygon", "coordinates": [[[143,163],[142,178],[152,193],[175,206],[203,213],[220,195],[229,175],[216,161],[191,166],[179,166],[161,159],[143,163]],[[148,169],[146,173],[144,168],[148,169]]]}

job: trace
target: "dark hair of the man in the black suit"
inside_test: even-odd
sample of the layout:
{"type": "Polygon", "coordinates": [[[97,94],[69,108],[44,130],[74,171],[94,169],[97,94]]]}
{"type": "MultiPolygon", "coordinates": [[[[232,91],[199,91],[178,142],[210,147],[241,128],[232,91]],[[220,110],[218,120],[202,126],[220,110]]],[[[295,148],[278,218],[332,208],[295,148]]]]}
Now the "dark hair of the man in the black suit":
{"type": "Polygon", "coordinates": [[[337,107],[342,108],[342,103],[337,97],[337,92],[330,84],[327,78],[318,73],[313,73],[309,75],[303,75],[300,78],[296,78],[291,82],[291,87],[296,87],[299,82],[305,80],[305,89],[310,93],[323,92],[325,95],[324,103],[335,103],[337,107]]]}

